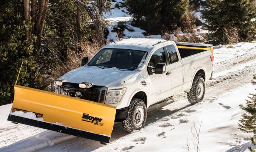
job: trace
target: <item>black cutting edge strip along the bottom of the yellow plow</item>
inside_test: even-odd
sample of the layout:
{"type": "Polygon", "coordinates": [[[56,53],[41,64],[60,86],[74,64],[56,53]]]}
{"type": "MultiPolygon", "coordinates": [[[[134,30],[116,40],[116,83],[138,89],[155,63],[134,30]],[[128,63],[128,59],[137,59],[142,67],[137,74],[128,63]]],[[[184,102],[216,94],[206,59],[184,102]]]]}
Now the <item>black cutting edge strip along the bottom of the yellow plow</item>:
{"type": "Polygon", "coordinates": [[[11,122],[22,123],[24,125],[30,125],[38,128],[47,129],[47,130],[53,130],[53,131],[65,133],[68,135],[87,138],[87,139],[91,139],[99,142],[109,143],[109,140],[110,140],[109,136],[99,135],[96,133],[86,132],[83,130],[68,128],[64,126],[59,126],[59,125],[55,125],[48,122],[42,122],[42,121],[37,121],[33,119],[23,118],[20,116],[9,115],[7,120],[11,122]]]}

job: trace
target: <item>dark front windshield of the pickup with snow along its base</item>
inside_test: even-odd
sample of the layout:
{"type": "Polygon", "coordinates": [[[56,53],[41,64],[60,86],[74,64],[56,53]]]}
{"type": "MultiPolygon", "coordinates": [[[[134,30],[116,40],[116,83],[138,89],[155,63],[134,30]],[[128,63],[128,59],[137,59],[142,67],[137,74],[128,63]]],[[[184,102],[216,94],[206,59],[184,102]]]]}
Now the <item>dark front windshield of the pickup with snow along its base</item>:
{"type": "Polygon", "coordinates": [[[144,62],[146,56],[147,52],[145,51],[127,49],[102,49],[91,59],[88,65],[135,70],[138,68],[141,62],[144,62]]]}

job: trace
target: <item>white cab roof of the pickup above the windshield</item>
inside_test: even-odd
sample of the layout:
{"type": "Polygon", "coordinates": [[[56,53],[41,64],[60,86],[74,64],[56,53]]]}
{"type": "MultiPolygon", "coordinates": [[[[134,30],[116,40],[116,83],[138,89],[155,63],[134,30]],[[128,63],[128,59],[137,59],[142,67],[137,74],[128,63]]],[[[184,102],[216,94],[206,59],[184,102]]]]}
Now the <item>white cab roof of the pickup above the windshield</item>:
{"type": "Polygon", "coordinates": [[[116,42],[112,42],[106,45],[106,48],[124,48],[132,50],[145,50],[150,49],[154,44],[167,42],[163,39],[153,39],[153,38],[130,38],[123,39],[116,42]]]}

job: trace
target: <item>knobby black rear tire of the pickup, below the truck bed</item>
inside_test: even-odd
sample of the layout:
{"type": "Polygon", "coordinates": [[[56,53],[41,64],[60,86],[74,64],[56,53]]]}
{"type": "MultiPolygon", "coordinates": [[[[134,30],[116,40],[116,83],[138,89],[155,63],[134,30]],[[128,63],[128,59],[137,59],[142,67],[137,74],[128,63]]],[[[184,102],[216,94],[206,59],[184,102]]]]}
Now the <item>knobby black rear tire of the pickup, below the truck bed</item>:
{"type": "Polygon", "coordinates": [[[187,93],[188,102],[190,102],[193,105],[198,102],[201,102],[204,99],[204,93],[205,93],[204,79],[201,76],[196,76],[194,78],[190,91],[187,93]],[[198,98],[197,89],[200,83],[203,83],[203,95],[201,98],[198,98]]]}

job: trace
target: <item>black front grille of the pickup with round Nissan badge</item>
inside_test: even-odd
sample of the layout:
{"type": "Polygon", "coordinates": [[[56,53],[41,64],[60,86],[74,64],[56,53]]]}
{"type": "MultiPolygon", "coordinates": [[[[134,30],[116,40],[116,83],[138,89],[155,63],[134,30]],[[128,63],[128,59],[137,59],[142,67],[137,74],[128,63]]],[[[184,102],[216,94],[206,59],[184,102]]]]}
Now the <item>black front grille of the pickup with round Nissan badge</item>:
{"type": "Polygon", "coordinates": [[[81,89],[79,88],[79,84],[77,83],[66,83],[63,86],[64,93],[69,96],[76,98],[76,92],[81,92],[82,96],[80,99],[90,100],[99,103],[105,102],[107,89],[108,88],[105,86],[92,86],[88,89],[81,89]]]}

